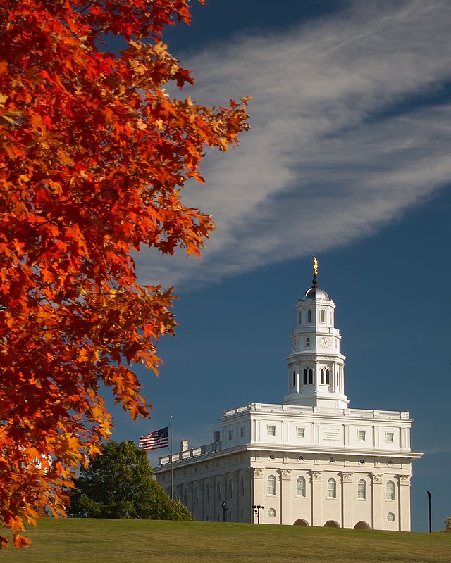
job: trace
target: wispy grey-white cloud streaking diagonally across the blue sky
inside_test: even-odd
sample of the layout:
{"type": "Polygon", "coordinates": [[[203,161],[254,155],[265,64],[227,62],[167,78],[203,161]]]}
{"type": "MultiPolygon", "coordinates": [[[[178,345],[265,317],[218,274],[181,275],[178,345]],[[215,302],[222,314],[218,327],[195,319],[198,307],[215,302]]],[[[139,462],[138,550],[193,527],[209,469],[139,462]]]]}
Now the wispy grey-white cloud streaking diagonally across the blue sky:
{"type": "Polygon", "coordinates": [[[451,3],[357,2],[190,60],[202,103],[253,96],[252,132],[209,154],[187,201],[212,213],[202,258],[142,252],[140,278],[193,286],[368,236],[451,181],[451,3]]]}

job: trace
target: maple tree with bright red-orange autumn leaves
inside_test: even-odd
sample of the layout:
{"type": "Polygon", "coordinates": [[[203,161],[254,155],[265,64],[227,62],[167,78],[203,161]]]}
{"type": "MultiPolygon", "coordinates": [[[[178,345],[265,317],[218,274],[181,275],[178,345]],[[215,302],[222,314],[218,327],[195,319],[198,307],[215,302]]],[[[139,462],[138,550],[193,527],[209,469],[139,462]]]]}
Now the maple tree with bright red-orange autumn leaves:
{"type": "Polygon", "coordinates": [[[245,99],[166,94],[193,82],[162,42],[182,20],[187,0],[0,0],[0,519],[17,546],[66,514],[109,436],[100,384],[149,415],[133,368],[157,372],[173,293],[140,286],[130,252],[199,253],[213,224],[181,189],[248,127],[245,99]]]}

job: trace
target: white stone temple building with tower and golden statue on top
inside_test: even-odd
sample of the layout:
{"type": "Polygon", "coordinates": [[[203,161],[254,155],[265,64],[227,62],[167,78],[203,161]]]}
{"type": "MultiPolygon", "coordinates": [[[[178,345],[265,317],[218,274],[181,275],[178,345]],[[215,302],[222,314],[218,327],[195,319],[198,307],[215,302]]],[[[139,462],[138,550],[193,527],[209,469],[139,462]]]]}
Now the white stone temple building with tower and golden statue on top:
{"type": "MultiPolygon", "coordinates": [[[[221,432],[172,456],[173,495],[204,521],[410,531],[409,412],[348,408],[335,303],[313,286],[296,304],[282,404],[226,410],[221,432]]],[[[171,460],[156,480],[171,494],[171,460]]]]}

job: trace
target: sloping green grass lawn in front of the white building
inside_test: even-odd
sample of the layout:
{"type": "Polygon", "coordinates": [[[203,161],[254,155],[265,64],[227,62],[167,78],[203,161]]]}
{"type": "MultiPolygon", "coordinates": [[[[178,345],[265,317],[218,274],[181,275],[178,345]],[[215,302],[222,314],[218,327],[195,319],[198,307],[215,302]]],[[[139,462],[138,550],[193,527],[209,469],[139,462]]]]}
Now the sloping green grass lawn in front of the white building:
{"type": "Polygon", "coordinates": [[[451,534],[52,518],[5,563],[450,563],[451,534]]]}

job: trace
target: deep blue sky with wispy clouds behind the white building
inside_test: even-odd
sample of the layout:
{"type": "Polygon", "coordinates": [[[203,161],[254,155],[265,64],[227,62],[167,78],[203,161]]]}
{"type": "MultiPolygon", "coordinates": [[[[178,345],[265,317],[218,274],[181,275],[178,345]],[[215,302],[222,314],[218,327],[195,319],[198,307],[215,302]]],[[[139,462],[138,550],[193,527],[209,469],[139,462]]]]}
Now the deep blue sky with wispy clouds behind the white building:
{"type": "MultiPolygon", "coordinates": [[[[202,258],[137,256],[142,283],[175,284],[178,336],[154,405],[114,439],[174,416],[174,440],[211,441],[221,412],[285,395],[295,303],[311,282],[337,305],[352,408],[408,410],[412,526],[451,514],[451,4],[216,0],[168,31],[192,99],[252,96],[240,147],[207,153],[191,205],[213,213],[202,258]],[[275,7],[276,6],[276,11],[275,7]]],[[[179,94],[180,95],[180,94],[179,94]]],[[[152,454],[152,462],[165,450],[152,454]]]]}

